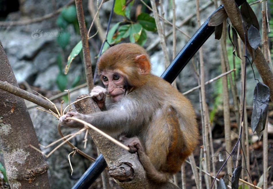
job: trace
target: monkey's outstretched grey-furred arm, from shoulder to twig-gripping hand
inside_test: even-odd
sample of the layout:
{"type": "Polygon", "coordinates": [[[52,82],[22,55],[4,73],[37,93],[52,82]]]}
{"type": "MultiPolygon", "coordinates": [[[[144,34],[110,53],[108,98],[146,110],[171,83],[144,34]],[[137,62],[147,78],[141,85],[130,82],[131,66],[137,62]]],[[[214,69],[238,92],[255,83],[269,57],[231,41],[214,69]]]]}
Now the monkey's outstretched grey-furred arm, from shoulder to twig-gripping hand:
{"type": "Polygon", "coordinates": [[[63,115],[59,122],[70,127],[82,127],[82,124],[66,119],[66,117],[76,117],[107,133],[127,132],[129,126],[135,126],[135,128],[130,128],[130,130],[137,130],[138,126],[149,122],[155,111],[155,107],[151,104],[147,105],[140,101],[141,99],[124,98],[112,109],[86,115],[78,112],[69,112],[63,115]]]}

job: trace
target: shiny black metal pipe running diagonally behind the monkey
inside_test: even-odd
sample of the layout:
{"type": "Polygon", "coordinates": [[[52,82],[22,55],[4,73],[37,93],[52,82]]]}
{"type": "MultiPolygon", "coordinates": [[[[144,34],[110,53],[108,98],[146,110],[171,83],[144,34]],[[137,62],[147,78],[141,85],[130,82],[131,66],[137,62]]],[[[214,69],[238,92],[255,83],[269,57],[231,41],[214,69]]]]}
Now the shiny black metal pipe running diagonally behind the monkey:
{"type": "MultiPolygon", "coordinates": [[[[246,0],[235,0],[238,6],[240,6],[246,0]]],[[[222,8],[219,6],[214,12],[222,8]]],[[[213,13],[212,13],[213,14],[213,13]]],[[[210,16],[209,16],[210,18],[210,16]]],[[[195,34],[190,38],[188,43],[183,47],[183,49],[174,58],[172,63],[167,67],[165,72],[161,75],[163,79],[172,83],[182,69],[191,60],[193,55],[200,49],[200,47],[205,43],[205,41],[214,32],[214,26],[208,26],[209,18],[202,24],[202,26],[195,32],[195,34]]],[[[101,174],[101,172],[107,166],[102,155],[97,157],[96,161],[86,170],[79,181],[72,187],[72,189],[84,189],[89,188],[91,184],[96,180],[96,178],[101,174]]]]}

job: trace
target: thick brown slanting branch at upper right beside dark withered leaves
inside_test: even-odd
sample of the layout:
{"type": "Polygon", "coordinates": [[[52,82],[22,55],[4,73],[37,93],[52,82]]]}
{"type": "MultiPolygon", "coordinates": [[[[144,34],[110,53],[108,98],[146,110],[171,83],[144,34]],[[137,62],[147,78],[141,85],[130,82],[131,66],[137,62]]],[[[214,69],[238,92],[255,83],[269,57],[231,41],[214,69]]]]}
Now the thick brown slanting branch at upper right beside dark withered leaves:
{"type": "MultiPolygon", "coordinates": [[[[230,19],[230,22],[232,23],[233,27],[236,29],[238,32],[239,36],[245,41],[245,36],[246,36],[246,41],[247,41],[247,50],[250,53],[251,57],[253,57],[253,52],[252,48],[248,43],[247,40],[247,29],[245,28],[245,35],[244,35],[244,28],[243,28],[243,23],[241,20],[241,15],[239,13],[239,10],[237,9],[237,6],[235,4],[234,0],[222,0],[224,4],[224,8],[226,10],[226,13],[228,14],[228,18],[230,19]]],[[[246,24],[244,24],[246,26],[246,24]]],[[[270,88],[270,99],[273,101],[273,74],[272,71],[270,70],[270,67],[264,58],[264,55],[261,51],[261,49],[258,47],[255,50],[255,59],[254,63],[257,67],[257,70],[259,74],[261,75],[264,84],[266,84],[270,88]]]]}

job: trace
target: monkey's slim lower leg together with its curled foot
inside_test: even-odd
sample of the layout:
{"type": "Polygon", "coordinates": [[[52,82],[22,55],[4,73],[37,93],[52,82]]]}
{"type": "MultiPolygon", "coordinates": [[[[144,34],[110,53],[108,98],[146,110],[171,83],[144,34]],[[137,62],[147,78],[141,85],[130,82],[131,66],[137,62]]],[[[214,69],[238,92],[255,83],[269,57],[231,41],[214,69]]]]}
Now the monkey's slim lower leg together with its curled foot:
{"type": "Polygon", "coordinates": [[[127,138],[125,136],[120,136],[120,141],[127,145],[130,148],[131,153],[137,152],[139,157],[139,161],[143,165],[146,175],[149,180],[154,182],[167,182],[171,176],[170,173],[164,173],[155,169],[153,164],[151,163],[150,158],[145,154],[145,150],[137,137],[127,138]]]}

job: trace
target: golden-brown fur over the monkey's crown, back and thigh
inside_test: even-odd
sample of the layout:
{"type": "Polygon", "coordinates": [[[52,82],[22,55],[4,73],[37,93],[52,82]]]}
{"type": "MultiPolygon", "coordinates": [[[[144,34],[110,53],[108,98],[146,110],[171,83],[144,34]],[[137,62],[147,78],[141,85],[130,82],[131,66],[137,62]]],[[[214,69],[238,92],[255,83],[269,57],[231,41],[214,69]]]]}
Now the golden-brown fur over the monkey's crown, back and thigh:
{"type": "MultiPolygon", "coordinates": [[[[146,162],[147,157],[143,158],[146,161],[141,160],[141,157],[145,156],[142,154],[140,160],[144,164],[147,175],[156,182],[166,182],[170,174],[180,170],[181,164],[197,145],[199,134],[195,113],[190,102],[180,92],[172,88],[168,82],[151,74],[139,74],[139,65],[145,67],[143,66],[143,61],[136,60],[136,57],[139,55],[145,55],[149,60],[147,52],[139,45],[130,43],[116,45],[101,56],[98,63],[98,71],[101,73],[104,70],[119,70],[124,73],[128,84],[134,90],[139,88],[154,90],[153,93],[161,95],[164,101],[171,99],[167,103],[167,108],[162,109],[162,117],[155,120],[155,122],[150,122],[149,127],[155,128],[148,128],[143,133],[137,134],[137,137],[146,149],[145,155],[147,154],[147,157],[149,157],[149,162],[156,167],[156,169],[152,169],[151,165],[147,165],[149,164],[146,162]],[[178,120],[179,116],[182,116],[180,119],[185,124],[182,129],[178,120]],[[159,122],[157,123],[157,121],[159,122]],[[165,127],[168,128],[167,132],[164,131],[166,129],[164,126],[163,128],[157,126],[162,123],[165,123],[165,127]],[[162,141],[166,136],[168,138],[167,141],[162,141]],[[162,148],[162,146],[164,147],[162,148]],[[165,153],[160,148],[165,150],[165,153]],[[148,173],[148,171],[150,172],[148,173]],[[161,175],[162,173],[163,175],[161,175]]],[[[149,69],[149,61],[146,64],[149,64],[146,66],[146,69],[149,69]]],[[[134,98],[138,98],[138,96],[134,94],[134,98]]],[[[147,99],[147,101],[150,100],[152,101],[152,99],[147,99]]],[[[164,105],[166,103],[162,102],[163,107],[164,105]]]]}

